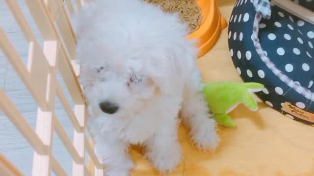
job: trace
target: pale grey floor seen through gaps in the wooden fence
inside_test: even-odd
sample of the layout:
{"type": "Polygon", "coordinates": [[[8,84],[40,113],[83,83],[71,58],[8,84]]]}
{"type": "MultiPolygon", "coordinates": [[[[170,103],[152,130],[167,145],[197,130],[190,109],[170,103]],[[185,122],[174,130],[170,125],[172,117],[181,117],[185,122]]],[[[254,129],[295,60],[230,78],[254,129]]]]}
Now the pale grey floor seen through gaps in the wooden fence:
{"type": "MultiPolygon", "coordinates": [[[[35,23],[32,21],[30,13],[26,8],[24,0],[18,0],[25,13],[26,18],[29,20],[36,36],[41,44],[43,40],[35,27],[35,23]]],[[[13,45],[17,48],[23,62],[27,61],[28,44],[15,22],[14,17],[11,15],[5,0],[0,0],[0,26],[7,33],[8,38],[13,45]]],[[[60,79],[59,79],[60,80],[60,79]]],[[[62,87],[65,90],[64,84],[62,87]]],[[[36,126],[36,110],[37,105],[31,98],[30,93],[24,86],[23,82],[18,77],[15,70],[8,63],[6,57],[0,50],[0,88],[2,88],[17,108],[27,119],[28,123],[35,129],[36,126]]],[[[68,93],[66,93],[69,95],[68,93]]],[[[70,96],[68,96],[70,97],[70,96]]],[[[1,97],[0,97],[1,98],[1,97]]],[[[58,100],[56,100],[55,114],[64,126],[66,132],[70,138],[73,139],[73,128],[70,121],[67,118],[66,113],[62,109],[62,106],[58,100]]],[[[53,141],[53,154],[56,159],[61,163],[68,174],[72,171],[72,160],[66,149],[62,145],[60,139],[54,133],[53,141]]],[[[8,118],[0,110],[0,153],[4,154],[10,159],[26,176],[31,175],[31,163],[33,150],[31,146],[26,142],[22,135],[16,130],[8,118]]]]}

